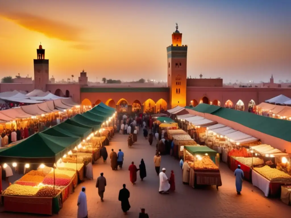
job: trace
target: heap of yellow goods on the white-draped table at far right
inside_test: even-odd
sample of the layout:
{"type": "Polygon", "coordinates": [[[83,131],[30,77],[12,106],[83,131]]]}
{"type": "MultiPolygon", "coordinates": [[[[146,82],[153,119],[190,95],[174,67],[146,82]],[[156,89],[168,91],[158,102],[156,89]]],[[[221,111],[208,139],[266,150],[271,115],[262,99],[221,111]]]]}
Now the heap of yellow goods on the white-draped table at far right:
{"type": "Polygon", "coordinates": [[[271,182],[291,183],[291,176],[278,169],[271,168],[269,166],[254,167],[253,169],[271,182]]]}

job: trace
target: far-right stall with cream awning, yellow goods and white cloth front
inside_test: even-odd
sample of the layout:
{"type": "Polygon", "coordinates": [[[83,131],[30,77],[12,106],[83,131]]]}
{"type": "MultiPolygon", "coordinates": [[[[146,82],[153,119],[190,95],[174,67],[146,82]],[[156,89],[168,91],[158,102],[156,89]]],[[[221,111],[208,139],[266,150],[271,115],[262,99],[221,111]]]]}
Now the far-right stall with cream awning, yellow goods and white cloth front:
{"type": "Polygon", "coordinates": [[[264,161],[262,166],[253,166],[252,183],[266,197],[280,196],[282,185],[291,185],[291,163],[287,153],[267,144],[251,146],[254,158],[264,161]]]}

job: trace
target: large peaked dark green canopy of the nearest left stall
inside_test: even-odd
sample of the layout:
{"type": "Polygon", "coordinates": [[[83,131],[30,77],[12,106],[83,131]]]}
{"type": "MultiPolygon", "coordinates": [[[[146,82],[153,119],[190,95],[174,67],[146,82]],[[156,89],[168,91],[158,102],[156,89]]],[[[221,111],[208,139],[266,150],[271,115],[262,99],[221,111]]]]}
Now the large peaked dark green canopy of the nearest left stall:
{"type": "Polygon", "coordinates": [[[8,149],[0,149],[0,157],[1,161],[54,163],[80,142],[78,137],[56,137],[35,133],[8,149]]]}

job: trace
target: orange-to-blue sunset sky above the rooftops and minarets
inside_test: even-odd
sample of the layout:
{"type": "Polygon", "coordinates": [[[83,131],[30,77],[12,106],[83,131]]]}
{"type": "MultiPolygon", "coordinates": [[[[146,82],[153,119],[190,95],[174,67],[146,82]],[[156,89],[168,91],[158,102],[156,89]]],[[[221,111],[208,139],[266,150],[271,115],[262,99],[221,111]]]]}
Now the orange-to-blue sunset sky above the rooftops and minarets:
{"type": "Polygon", "coordinates": [[[0,77],[33,76],[41,42],[57,80],[166,80],[175,22],[188,76],[291,80],[290,0],[0,0],[0,77]]]}

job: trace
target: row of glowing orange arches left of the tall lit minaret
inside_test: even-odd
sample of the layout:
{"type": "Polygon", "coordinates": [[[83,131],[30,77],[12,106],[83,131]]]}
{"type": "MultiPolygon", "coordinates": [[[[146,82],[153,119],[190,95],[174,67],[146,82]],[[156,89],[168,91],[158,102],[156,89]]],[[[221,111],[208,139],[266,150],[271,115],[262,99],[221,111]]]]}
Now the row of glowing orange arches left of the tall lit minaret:
{"type": "MultiPolygon", "coordinates": [[[[92,103],[89,99],[84,99],[82,101],[82,105],[91,105],[95,106],[101,103],[101,100],[95,101],[92,103]]],[[[107,106],[111,108],[116,108],[119,112],[129,113],[129,112],[143,112],[143,113],[158,113],[167,110],[167,102],[164,99],[159,99],[157,102],[153,101],[152,99],[147,99],[143,103],[139,100],[134,100],[131,104],[128,103],[126,99],[119,99],[116,103],[113,99],[108,99],[104,102],[107,106]],[[129,107],[130,106],[130,107],[129,107]]]]}

